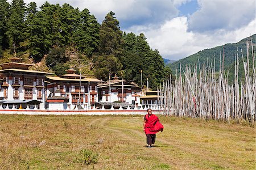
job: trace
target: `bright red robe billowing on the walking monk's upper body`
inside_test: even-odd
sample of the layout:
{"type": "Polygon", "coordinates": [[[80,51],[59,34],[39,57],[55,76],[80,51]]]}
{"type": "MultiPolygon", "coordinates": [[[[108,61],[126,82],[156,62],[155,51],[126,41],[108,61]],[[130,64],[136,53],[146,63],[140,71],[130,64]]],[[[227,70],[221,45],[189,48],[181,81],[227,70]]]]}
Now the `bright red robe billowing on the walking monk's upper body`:
{"type": "Polygon", "coordinates": [[[158,131],[163,131],[163,125],[160,124],[159,118],[155,114],[145,115],[144,119],[146,120],[145,124],[145,133],[146,134],[156,134],[158,131]]]}

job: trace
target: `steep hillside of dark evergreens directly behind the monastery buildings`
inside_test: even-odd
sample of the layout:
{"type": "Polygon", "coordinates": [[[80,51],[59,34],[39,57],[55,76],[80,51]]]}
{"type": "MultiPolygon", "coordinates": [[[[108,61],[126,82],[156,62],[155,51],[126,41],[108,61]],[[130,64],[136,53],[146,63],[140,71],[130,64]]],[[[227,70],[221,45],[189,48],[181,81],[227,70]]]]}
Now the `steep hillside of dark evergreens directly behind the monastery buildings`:
{"type": "Polygon", "coordinates": [[[37,7],[22,0],[0,0],[0,62],[16,53],[31,69],[64,74],[69,67],[107,80],[109,75],[150,87],[171,74],[158,50],[141,33],[122,32],[114,12],[98,23],[88,9],[45,2],[37,7]]]}

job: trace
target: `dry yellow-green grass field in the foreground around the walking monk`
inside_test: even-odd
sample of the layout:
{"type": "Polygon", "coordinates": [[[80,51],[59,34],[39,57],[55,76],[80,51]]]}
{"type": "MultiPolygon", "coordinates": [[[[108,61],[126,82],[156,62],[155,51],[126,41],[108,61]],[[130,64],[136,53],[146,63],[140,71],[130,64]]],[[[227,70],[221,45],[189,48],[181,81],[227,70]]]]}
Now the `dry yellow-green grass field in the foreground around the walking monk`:
{"type": "Polygon", "coordinates": [[[0,115],[1,169],[256,169],[255,128],[160,117],[146,148],[143,116],[0,115]]]}

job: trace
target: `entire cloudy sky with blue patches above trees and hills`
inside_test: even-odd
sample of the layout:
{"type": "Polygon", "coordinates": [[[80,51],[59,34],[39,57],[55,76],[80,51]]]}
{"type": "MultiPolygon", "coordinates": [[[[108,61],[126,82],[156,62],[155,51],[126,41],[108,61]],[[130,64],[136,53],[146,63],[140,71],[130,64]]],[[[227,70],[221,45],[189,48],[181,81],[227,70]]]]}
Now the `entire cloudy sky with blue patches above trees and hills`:
{"type": "MultiPolygon", "coordinates": [[[[9,1],[10,2],[10,1],[9,1]]],[[[24,0],[25,3],[31,1],[24,0]]],[[[35,0],[38,6],[45,1],[35,0]]],[[[178,60],[199,50],[238,42],[256,33],[255,0],[48,0],[88,8],[102,23],[115,12],[122,31],[144,33],[163,58],[178,60]]]]}

